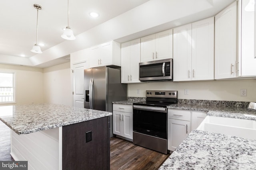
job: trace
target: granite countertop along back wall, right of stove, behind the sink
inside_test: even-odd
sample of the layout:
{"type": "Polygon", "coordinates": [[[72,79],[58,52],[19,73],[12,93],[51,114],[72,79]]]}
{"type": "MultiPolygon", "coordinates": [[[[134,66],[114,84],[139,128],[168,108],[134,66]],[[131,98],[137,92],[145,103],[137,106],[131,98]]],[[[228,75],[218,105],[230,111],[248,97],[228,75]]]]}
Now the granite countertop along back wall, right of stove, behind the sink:
{"type": "Polygon", "coordinates": [[[207,115],[210,116],[256,120],[256,110],[243,107],[208,106],[199,104],[173,104],[171,106],[168,106],[168,109],[207,111],[207,115]]]}

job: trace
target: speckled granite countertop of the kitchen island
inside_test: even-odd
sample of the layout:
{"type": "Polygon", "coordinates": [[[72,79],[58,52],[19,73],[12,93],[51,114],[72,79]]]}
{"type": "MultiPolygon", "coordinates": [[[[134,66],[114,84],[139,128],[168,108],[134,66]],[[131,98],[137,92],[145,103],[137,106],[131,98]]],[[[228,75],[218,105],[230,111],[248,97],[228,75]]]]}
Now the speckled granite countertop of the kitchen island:
{"type": "Polygon", "coordinates": [[[18,135],[89,121],[111,112],[60,104],[0,106],[0,120],[18,135]]]}

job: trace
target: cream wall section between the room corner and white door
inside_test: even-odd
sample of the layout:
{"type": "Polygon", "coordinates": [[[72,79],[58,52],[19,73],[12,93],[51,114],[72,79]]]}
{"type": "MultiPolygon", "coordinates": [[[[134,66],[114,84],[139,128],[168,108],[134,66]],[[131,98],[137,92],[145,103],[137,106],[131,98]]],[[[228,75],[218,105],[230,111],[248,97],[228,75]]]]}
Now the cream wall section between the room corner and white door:
{"type": "Polygon", "coordinates": [[[70,62],[44,68],[44,102],[72,106],[70,62]]]}

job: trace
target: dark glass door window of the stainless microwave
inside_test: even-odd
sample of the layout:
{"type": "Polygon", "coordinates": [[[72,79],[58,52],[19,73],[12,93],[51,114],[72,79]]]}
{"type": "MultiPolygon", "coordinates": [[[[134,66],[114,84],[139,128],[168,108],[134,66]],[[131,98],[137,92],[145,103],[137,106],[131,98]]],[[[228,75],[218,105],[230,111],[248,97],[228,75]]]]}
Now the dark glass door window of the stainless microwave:
{"type": "Polygon", "coordinates": [[[163,63],[156,63],[140,66],[140,78],[163,76],[162,65],[163,63]]]}

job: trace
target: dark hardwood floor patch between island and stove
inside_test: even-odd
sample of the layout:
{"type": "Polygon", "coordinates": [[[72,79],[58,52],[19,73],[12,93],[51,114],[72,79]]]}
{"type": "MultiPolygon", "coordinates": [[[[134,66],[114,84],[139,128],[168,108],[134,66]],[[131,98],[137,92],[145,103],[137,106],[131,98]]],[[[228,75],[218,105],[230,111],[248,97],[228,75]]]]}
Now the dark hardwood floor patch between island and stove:
{"type": "Polygon", "coordinates": [[[111,170],[157,170],[169,156],[124,139],[110,139],[111,170]]]}

